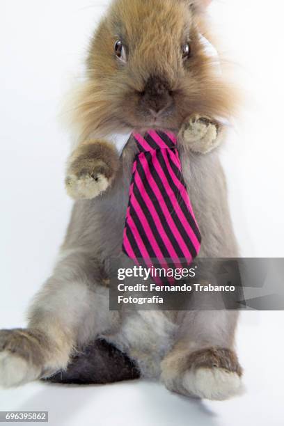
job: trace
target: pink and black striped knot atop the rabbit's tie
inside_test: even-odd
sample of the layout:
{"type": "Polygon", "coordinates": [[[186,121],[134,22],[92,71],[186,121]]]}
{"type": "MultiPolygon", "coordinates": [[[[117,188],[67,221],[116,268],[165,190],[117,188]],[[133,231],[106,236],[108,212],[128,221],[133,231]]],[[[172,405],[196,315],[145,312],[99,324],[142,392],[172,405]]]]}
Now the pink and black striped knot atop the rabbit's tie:
{"type": "Polygon", "coordinates": [[[145,134],[132,134],[141,152],[175,148],[177,137],[172,132],[149,130],[145,134]]]}

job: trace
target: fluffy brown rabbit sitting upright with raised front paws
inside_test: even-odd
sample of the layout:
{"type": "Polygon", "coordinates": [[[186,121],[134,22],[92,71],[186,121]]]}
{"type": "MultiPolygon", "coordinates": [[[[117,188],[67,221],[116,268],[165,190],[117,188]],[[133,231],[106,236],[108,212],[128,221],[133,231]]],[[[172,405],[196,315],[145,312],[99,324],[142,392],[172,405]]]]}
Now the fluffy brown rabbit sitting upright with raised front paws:
{"type": "Polygon", "coordinates": [[[125,133],[126,142],[134,129],[178,133],[184,180],[203,236],[200,256],[238,255],[213,149],[225,136],[222,123],[235,102],[216,56],[208,53],[204,3],[115,0],[102,19],[90,44],[86,81],[74,97],[77,148],[66,186],[77,203],[58,263],[29,310],[28,328],[0,332],[3,386],[61,371],[54,381],[102,383],[141,375],[183,395],[222,400],[239,393],[236,312],[109,310],[107,261],[124,262],[137,152],[130,139],[119,155],[113,134],[125,133]]]}

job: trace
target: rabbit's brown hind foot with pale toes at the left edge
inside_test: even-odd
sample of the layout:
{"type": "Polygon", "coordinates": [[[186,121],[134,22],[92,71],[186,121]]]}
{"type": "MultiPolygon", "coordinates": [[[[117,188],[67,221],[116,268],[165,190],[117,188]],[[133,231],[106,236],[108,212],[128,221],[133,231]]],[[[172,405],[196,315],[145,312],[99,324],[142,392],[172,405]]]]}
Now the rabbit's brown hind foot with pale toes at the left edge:
{"type": "Polygon", "coordinates": [[[42,374],[45,338],[38,331],[0,331],[0,386],[10,388],[42,374]]]}

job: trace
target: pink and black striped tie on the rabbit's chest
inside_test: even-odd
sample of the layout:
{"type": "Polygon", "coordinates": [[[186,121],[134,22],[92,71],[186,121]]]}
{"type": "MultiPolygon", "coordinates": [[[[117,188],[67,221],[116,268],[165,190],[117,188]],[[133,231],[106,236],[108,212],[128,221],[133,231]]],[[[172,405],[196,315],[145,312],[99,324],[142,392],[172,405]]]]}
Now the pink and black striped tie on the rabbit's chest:
{"type": "Polygon", "coordinates": [[[132,170],[123,251],[137,263],[184,260],[200,251],[201,237],[182,178],[176,136],[132,134],[138,148],[132,170]]]}

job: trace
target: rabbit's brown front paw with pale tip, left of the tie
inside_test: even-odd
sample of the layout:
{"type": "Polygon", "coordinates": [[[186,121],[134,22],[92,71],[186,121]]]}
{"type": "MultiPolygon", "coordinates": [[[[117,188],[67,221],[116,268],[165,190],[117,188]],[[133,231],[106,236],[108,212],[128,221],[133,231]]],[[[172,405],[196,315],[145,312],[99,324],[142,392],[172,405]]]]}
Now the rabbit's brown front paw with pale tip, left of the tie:
{"type": "Polygon", "coordinates": [[[112,145],[95,142],[82,145],[70,158],[65,186],[75,200],[102,194],[113,180],[119,159],[112,145]]]}

